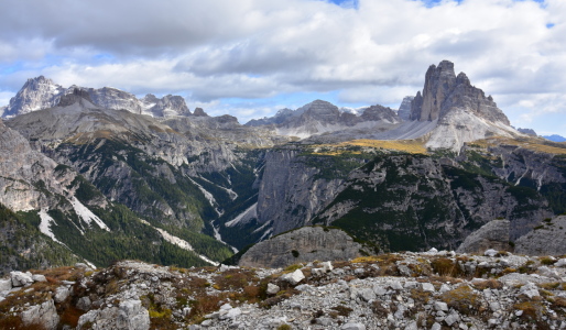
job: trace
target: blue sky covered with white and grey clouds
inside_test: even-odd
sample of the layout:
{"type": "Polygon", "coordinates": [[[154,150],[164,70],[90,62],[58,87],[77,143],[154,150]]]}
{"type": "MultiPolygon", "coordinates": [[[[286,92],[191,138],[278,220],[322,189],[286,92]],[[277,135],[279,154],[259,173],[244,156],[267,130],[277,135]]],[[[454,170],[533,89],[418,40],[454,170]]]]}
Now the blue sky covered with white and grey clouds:
{"type": "Polygon", "coordinates": [[[241,123],[315,99],[399,108],[455,63],[566,135],[565,0],[0,0],[0,106],[28,78],[181,95],[241,123]]]}

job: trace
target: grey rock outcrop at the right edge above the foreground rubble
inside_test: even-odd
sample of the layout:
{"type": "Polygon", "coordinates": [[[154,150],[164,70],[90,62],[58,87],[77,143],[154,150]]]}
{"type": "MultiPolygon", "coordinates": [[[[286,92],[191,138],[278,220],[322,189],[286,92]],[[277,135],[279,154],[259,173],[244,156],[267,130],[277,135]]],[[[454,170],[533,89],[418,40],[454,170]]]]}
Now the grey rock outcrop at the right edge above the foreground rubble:
{"type": "Polygon", "coordinates": [[[515,253],[526,255],[566,254],[566,216],[546,219],[515,241],[515,253]]]}

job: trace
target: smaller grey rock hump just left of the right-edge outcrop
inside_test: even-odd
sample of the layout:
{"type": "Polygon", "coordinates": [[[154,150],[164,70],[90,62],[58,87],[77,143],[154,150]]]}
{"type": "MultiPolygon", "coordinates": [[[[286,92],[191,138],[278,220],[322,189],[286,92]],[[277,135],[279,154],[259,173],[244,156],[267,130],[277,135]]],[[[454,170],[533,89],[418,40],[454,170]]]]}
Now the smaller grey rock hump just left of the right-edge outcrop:
{"type": "Polygon", "coordinates": [[[509,250],[509,220],[492,220],[464,240],[456,252],[483,253],[486,250],[509,250]]]}

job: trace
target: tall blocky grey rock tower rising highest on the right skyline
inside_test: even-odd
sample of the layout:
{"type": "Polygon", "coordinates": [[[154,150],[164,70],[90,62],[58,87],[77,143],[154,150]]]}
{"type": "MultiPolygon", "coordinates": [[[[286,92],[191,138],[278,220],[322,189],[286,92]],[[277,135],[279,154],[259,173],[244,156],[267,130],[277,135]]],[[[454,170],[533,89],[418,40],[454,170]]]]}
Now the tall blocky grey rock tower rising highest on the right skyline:
{"type": "Polygon", "coordinates": [[[491,122],[509,125],[509,119],[491,97],[470,84],[466,74],[456,76],[454,64],[443,61],[431,65],[426,72],[423,94],[417,92],[411,105],[412,120],[434,121],[454,109],[461,109],[491,122]]]}

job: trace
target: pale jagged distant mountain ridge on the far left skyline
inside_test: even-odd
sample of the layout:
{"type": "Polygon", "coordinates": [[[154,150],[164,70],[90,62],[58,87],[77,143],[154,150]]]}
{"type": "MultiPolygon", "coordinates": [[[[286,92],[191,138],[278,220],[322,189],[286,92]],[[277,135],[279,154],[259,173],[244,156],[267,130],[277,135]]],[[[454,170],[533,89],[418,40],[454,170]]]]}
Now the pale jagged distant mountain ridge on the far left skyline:
{"type": "Polygon", "coordinates": [[[76,88],[86,90],[94,105],[106,109],[123,109],[133,113],[149,114],[152,117],[192,114],[185,103],[185,99],[181,96],[167,95],[160,99],[149,94],[142,99],[138,99],[133,94],[111,87],[96,89],[74,85],[69,88],[64,88],[53,80],[40,76],[25,81],[15,97],[10,99],[10,103],[3,111],[0,111],[1,116],[3,118],[11,118],[18,114],[55,107],[64,95],[73,94],[73,90],[76,88]]]}

